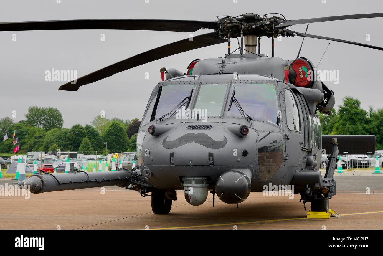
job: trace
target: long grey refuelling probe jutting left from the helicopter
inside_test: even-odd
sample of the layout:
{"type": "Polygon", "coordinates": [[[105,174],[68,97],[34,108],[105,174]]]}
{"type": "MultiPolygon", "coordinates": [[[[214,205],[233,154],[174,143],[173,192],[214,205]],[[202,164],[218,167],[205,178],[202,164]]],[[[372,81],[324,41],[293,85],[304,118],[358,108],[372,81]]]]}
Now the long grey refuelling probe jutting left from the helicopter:
{"type": "Polygon", "coordinates": [[[128,170],[113,172],[68,172],[65,174],[38,172],[28,179],[20,181],[17,185],[29,189],[34,194],[39,194],[113,185],[126,187],[129,181],[131,181],[131,171],[128,170]]]}

